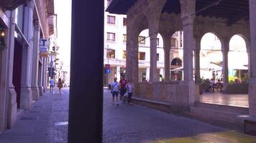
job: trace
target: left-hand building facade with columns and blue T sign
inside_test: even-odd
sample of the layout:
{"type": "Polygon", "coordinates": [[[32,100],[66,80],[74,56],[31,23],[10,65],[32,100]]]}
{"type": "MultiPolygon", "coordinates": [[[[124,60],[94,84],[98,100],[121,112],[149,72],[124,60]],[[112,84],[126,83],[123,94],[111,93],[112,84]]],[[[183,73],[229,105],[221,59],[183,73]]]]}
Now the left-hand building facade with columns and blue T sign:
{"type": "Polygon", "coordinates": [[[0,132],[12,127],[17,114],[30,109],[47,88],[53,14],[53,0],[0,2],[0,132]]]}

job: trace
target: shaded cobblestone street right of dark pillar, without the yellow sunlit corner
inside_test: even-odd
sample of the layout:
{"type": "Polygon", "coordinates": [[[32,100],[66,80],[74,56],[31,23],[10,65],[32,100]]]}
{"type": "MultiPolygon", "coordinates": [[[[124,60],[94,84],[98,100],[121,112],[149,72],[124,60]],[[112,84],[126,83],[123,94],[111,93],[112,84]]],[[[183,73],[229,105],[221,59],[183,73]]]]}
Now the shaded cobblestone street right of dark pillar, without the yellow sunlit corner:
{"type": "Polygon", "coordinates": [[[150,142],[157,139],[224,131],[203,122],[139,105],[112,105],[111,95],[106,90],[104,90],[103,124],[104,143],[150,142]]]}

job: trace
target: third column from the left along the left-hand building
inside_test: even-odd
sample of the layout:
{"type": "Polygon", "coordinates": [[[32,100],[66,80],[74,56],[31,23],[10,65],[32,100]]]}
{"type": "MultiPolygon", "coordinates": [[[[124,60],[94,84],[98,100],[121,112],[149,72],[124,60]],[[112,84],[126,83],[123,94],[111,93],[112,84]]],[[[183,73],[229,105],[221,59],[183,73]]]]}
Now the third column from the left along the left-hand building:
{"type": "Polygon", "coordinates": [[[37,100],[39,97],[38,87],[38,66],[39,66],[39,41],[40,41],[40,25],[38,20],[34,20],[34,44],[32,54],[32,99],[37,100]]]}

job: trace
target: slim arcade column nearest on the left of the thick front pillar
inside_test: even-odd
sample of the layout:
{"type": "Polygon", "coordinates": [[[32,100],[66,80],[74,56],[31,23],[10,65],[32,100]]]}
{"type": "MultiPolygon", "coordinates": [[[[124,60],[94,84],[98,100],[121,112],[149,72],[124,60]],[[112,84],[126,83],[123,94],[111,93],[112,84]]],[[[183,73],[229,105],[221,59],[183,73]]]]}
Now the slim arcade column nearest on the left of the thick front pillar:
{"type": "Polygon", "coordinates": [[[170,37],[163,39],[163,50],[165,51],[165,81],[170,81],[170,37]]]}

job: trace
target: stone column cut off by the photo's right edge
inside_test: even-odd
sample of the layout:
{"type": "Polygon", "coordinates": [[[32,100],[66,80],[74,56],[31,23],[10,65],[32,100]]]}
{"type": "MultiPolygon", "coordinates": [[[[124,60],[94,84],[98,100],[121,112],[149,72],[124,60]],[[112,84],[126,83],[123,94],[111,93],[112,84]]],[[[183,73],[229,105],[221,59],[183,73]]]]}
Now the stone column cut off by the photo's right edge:
{"type": "Polygon", "coordinates": [[[249,114],[256,116],[256,3],[250,0],[250,82],[249,82],[249,114]]]}

